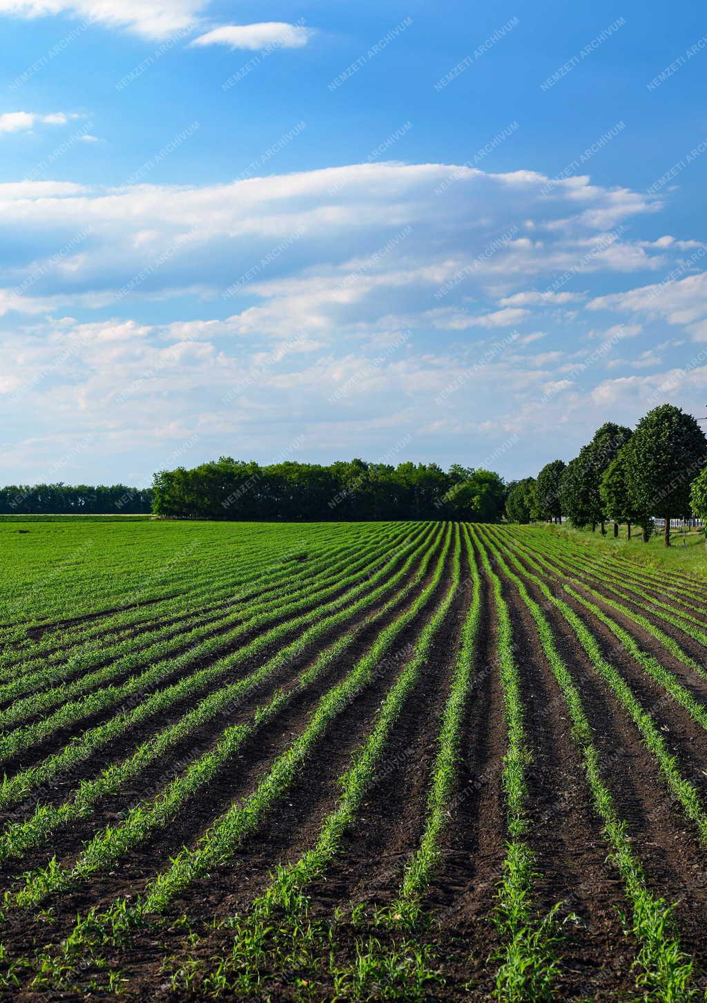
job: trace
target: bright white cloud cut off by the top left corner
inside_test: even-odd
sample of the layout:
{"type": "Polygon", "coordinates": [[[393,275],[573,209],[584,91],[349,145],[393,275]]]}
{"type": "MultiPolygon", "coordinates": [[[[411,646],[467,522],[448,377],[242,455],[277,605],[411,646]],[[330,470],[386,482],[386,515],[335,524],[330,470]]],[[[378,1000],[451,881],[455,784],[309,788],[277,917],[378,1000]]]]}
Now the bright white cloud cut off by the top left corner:
{"type": "Polygon", "coordinates": [[[205,0],[0,0],[0,14],[41,17],[70,14],[146,38],[167,38],[196,26],[205,0]]]}

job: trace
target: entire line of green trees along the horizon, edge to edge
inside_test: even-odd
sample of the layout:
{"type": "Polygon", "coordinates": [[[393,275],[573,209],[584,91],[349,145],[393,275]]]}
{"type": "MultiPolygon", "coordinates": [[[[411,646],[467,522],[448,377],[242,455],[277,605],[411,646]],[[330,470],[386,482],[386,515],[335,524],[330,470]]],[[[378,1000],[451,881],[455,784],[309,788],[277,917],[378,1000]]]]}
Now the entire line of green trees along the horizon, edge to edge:
{"type": "Polygon", "coordinates": [[[436,463],[329,465],[286,461],[261,466],[221,456],[187,469],[160,470],[151,488],[70,486],[64,483],[0,488],[0,515],[143,515],[171,519],[264,522],[467,520],[513,523],[567,518],[578,528],[606,533],[607,522],[644,541],[654,517],[691,514],[707,524],[707,437],[681,408],[663,404],[635,429],[607,422],[578,456],[556,459],[537,477],[505,484],[486,469],[436,463]]]}

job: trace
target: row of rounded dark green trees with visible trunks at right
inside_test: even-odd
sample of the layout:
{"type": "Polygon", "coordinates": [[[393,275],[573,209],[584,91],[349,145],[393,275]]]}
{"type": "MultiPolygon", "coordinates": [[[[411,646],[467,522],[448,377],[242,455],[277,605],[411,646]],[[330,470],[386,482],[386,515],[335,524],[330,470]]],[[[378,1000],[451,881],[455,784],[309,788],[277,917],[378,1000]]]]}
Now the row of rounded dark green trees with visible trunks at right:
{"type": "Polygon", "coordinates": [[[638,526],[650,539],[654,517],[665,520],[670,547],[671,519],[693,513],[707,519],[707,437],[690,414],[672,404],[654,408],[632,430],[612,421],[599,428],[579,456],[548,463],[538,477],[509,485],[506,516],[515,523],[560,521],[578,528],[614,523],[638,526]]]}

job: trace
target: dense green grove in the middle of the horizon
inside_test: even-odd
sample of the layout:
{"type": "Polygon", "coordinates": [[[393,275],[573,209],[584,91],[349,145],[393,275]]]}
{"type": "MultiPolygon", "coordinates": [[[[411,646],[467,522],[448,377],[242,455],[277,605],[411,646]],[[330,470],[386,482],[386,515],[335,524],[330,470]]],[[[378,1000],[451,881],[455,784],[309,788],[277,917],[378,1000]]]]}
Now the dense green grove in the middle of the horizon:
{"type": "Polygon", "coordinates": [[[222,456],[154,476],[152,511],[178,519],[266,522],[470,519],[497,522],[506,488],[491,470],[455,464],[329,466],[287,461],[260,466],[222,456]]]}

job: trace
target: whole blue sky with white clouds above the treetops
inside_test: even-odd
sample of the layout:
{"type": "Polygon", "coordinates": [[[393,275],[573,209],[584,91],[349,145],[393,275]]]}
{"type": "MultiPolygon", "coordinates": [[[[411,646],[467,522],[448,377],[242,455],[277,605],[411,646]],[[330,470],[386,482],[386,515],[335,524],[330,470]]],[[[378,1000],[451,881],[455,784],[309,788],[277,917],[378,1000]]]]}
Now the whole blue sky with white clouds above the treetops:
{"type": "Polygon", "coordinates": [[[3,482],[570,458],[707,374],[694,8],[0,0],[3,482]]]}

